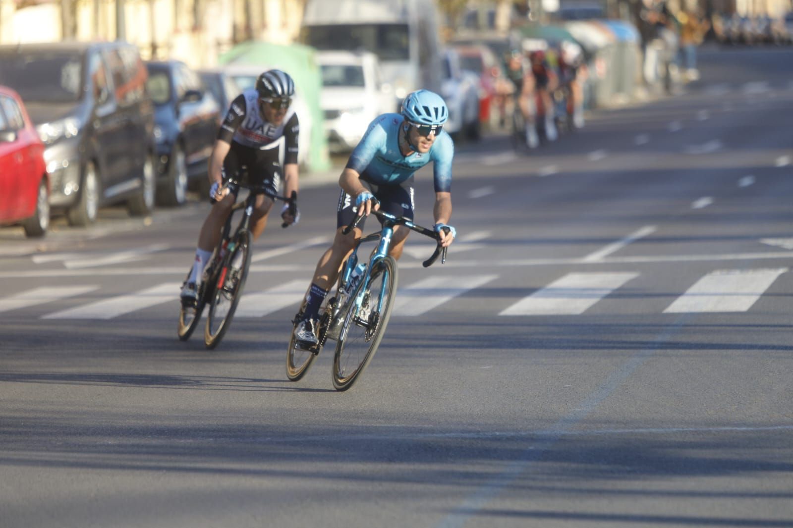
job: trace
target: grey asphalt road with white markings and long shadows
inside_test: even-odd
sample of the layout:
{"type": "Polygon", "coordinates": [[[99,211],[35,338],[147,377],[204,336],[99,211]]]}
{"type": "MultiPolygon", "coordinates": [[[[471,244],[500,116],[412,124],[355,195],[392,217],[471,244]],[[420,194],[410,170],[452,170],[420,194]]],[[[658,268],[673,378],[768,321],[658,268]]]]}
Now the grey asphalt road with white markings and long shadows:
{"type": "Polygon", "coordinates": [[[285,378],[331,184],[213,351],[176,338],[208,205],[0,230],[0,526],[793,526],[793,50],[699,58],[531,155],[460,145],[458,241],[412,235],[349,392],[332,350],[285,378]]]}

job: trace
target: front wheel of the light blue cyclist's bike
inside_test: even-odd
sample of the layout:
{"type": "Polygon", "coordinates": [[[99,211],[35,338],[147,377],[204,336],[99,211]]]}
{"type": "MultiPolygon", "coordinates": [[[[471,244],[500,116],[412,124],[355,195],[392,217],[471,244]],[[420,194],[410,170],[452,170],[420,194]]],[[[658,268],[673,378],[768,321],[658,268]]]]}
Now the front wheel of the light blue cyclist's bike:
{"type": "Polygon", "coordinates": [[[351,388],[358,381],[366,366],[370,364],[372,358],[374,358],[383,335],[385,335],[385,328],[391,318],[391,308],[397,296],[397,282],[397,262],[392,257],[387,256],[374,264],[370,271],[370,281],[366,291],[361,291],[364,283],[364,281],[361,281],[355,293],[351,296],[351,301],[343,312],[344,322],[333,356],[333,387],[337,391],[346,391],[351,388]],[[380,284],[379,289],[378,284],[380,284]],[[362,326],[362,319],[358,319],[358,316],[362,310],[366,310],[370,302],[380,296],[381,291],[384,293],[380,312],[369,308],[370,312],[366,314],[366,327],[362,326]],[[373,295],[373,293],[376,294],[373,295]],[[359,309],[357,303],[352,301],[358,299],[358,296],[361,295],[364,297],[361,309],[359,309]],[[371,328],[373,322],[374,329],[371,328]],[[362,328],[363,334],[351,335],[350,332],[354,332],[356,328],[362,328]],[[368,342],[369,345],[362,346],[362,339],[364,343],[368,342]],[[358,348],[361,346],[366,350],[359,351],[358,348]]]}

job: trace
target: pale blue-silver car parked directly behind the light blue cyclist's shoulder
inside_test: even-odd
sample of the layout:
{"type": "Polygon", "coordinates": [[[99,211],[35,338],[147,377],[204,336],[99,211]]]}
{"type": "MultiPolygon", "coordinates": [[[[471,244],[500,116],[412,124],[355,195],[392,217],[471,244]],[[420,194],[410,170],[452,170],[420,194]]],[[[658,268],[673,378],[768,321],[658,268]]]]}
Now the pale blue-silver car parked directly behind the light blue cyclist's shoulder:
{"type": "Polygon", "coordinates": [[[443,127],[446,132],[479,139],[479,77],[462,69],[460,55],[451,48],[443,52],[441,95],[449,107],[449,120],[443,127]]]}

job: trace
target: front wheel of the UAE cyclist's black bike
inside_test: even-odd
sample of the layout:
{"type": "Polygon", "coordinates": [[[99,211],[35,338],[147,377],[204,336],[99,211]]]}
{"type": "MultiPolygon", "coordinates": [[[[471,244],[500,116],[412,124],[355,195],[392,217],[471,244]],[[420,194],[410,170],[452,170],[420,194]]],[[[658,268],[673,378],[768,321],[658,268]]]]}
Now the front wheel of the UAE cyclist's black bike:
{"type": "Polygon", "coordinates": [[[204,344],[209,349],[220,344],[231,326],[245,287],[248,267],[251,266],[251,232],[240,231],[232,239],[232,243],[234,249],[223,259],[214,287],[215,292],[209,301],[204,331],[204,344]]]}

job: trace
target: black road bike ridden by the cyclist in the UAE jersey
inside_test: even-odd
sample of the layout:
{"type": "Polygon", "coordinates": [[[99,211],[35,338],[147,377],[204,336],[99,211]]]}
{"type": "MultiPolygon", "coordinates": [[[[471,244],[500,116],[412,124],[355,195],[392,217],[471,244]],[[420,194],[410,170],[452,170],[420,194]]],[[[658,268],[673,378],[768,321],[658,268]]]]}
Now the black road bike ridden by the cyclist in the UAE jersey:
{"type": "MultiPolygon", "coordinates": [[[[201,313],[209,304],[204,331],[204,343],[207,348],[213,349],[223,339],[226,330],[232,323],[239,298],[242,297],[248,267],[251,265],[251,216],[253,215],[256,197],[259,194],[285,201],[289,204],[289,212],[294,216],[297,213],[297,193],[292,192],[290,197],[282,197],[272,193],[265,186],[255,186],[245,183],[245,174],[238,174],[228,178],[224,186],[234,195],[236,201],[239,189],[247,189],[248,195],[243,201],[236,201],[232,206],[226,223],[224,224],[220,243],[215,247],[209,264],[205,267],[201,285],[198,286],[197,300],[194,304],[182,304],[179,311],[178,335],[179,339],[186,341],[201,321],[201,313]],[[232,233],[232,217],[236,211],[243,211],[239,224],[232,233]]],[[[282,223],[282,228],[289,224],[282,223]]],[[[188,279],[190,273],[188,273],[188,279]]]]}

